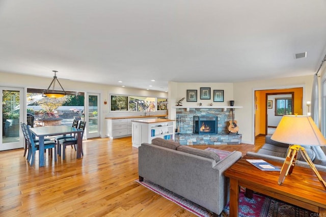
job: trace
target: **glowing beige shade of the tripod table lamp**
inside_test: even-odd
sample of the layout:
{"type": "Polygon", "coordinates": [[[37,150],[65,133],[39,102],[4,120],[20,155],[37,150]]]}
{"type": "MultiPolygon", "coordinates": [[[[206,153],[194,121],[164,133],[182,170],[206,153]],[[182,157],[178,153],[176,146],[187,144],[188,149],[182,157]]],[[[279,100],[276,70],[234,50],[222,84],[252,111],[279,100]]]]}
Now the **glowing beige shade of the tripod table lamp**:
{"type": "Polygon", "coordinates": [[[304,115],[284,115],[270,139],[291,145],[326,145],[315,122],[304,115]]]}

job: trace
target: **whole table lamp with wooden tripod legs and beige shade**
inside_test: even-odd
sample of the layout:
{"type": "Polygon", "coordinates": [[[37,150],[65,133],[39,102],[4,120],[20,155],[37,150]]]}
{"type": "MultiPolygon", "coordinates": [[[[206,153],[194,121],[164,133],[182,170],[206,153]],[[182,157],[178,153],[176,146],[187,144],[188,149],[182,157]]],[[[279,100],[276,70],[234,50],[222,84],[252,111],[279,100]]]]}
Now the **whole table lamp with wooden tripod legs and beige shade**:
{"type": "Polygon", "coordinates": [[[326,145],[326,140],[310,116],[304,115],[284,115],[271,136],[272,140],[290,144],[286,159],[282,166],[279,184],[284,182],[285,177],[292,173],[298,152],[302,154],[314,171],[321,185],[326,190],[326,182],[322,179],[315,165],[309,158],[302,145],[322,146],[326,145]]]}

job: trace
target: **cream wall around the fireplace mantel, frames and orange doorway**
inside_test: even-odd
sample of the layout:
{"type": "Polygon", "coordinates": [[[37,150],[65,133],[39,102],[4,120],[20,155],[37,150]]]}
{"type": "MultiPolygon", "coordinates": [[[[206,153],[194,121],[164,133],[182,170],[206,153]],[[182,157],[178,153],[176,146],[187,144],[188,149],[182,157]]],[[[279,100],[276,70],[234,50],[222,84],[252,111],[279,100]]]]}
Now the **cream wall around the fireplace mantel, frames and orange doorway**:
{"type": "MultiPolygon", "coordinates": [[[[199,90],[201,87],[210,87],[212,90],[224,90],[224,102],[213,102],[210,100],[200,100],[197,96],[197,102],[183,101],[184,106],[198,106],[199,102],[203,105],[208,105],[209,102],[213,102],[214,105],[229,105],[229,100],[234,100],[234,105],[243,106],[243,108],[237,109],[235,112],[235,120],[237,120],[239,126],[239,133],[242,134],[242,143],[254,144],[254,91],[255,90],[268,90],[268,89],[284,89],[303,87],[303,101],[309,101],[311,98],[313,75],[298,76],[284,79],[268,79],[257,80],[251,82],[239,82],[239,83],[169,83],[169,118],[175,119],[175,106],[176,101],[182,97],[186,97],[186,90],[199,90]]],[[[304,113],[306,108],[304,108],[304,113]]]]}

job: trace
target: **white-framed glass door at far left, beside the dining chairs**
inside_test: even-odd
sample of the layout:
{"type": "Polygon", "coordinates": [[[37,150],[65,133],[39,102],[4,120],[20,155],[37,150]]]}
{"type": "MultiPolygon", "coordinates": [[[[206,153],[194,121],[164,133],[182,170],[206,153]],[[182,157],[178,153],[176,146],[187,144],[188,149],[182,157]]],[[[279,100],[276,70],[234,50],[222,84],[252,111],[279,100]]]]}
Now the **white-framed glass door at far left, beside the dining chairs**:
{"type": "Polygon", "coordinates": [[[0,133],[0,151],[23,148],[20,122],[24,122],[23,88],[0,87],[2,106],[0,114],[2,131],[0,133]]]}

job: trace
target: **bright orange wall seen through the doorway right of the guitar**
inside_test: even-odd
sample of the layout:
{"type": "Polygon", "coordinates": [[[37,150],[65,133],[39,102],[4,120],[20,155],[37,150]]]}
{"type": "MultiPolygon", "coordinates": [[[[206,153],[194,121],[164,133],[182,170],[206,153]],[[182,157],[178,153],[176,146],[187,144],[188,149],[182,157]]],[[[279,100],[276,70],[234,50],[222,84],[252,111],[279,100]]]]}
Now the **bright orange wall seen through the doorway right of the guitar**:
{"type": "MultiPolygon", "coordinates": [[[[266,127],[266,94],[294,92],[294,114],[302,115],[303,88],[255,91],[255,136],[265,134],[266,127]]],[[[275,106],[273,106],[275,107],[275,106]]]]}

